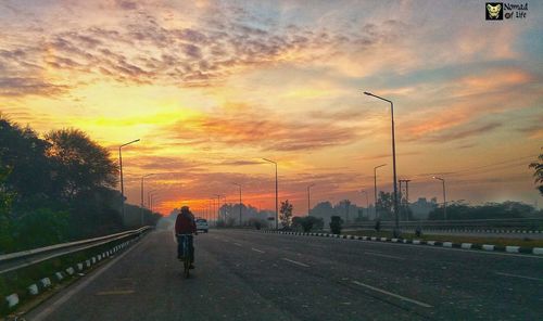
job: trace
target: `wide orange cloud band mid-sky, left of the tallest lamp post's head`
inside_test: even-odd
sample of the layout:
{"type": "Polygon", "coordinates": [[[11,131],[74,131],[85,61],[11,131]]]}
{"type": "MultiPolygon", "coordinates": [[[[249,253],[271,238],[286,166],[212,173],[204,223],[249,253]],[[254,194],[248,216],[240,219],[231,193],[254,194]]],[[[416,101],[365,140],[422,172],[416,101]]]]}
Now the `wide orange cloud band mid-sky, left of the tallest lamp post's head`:
{"type": "Polygon", "coordinates": [[[182,145],[248,146],[261,151],[302,151],[354,142],[359,133],[345,124],[281,117],[263,107],[223,110],[184,119],[162,131],[182,145]],[[266,118],[261,115],[266,114],[266,118]]]}

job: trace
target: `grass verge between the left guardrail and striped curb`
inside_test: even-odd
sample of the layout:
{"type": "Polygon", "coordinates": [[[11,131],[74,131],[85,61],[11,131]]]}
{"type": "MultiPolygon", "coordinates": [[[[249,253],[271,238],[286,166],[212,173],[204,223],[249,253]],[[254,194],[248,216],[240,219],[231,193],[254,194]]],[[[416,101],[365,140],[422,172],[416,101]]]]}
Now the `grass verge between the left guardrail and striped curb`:
{"type": "Polygon", "coordinates": [[[43,293],[53,293],[60,287],[60,285],[74,281],[78,277],[80,277],[78,273],[88,273],[90,270],[100,266],[100,264],[103,262],[104,259],[102,259],[101,262],[92,265],[90,268],[86,267],[85,261],[96,255],[111,249],[112,247],[123,243],[124,241],[126,240],[119,240],[101,246],[87,248],[81,252],[66,254],[50,260],[0,274],[0,320],[2,320],[2,317],[5,317],[7,314],[20,309],[24,304],[35,298],[39,299],[39,297],[41,297],[43,293]],[[77,269],[77,264],[79,262],[84,264],[83,271],[79,271],[77,269]],[[75,273],[73,275],[68,275],[66,273],[66,269],[70,267],[73,267],[75,269],[75,273]],[[63,280],[59,281],[55,277],[55,272],[62,272],[64,277],[63,280]],[[52,284],[50,287],[43,288],[43,286],[39,284],[39,280],[43,278],[49,278],[51,280],[52,284]],[[40,295],[33,296],[29,294],[28,286],[30,284],[38,285],[40,295]],[[21,303],[15,308],[10,309],[4,297],[13,293],[16,293],[18,295],[21,303]]]}

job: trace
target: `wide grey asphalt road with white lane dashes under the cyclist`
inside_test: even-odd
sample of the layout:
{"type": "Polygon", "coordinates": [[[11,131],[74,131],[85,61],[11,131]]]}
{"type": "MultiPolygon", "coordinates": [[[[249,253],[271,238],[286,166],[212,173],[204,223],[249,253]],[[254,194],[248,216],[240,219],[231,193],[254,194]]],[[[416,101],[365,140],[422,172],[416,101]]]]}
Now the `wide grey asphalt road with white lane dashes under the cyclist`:
{"type": "Polygon", "coordinates": [[[155,231],[28,320],[541,320],[543,257],[211,230],[191,278],[155,231]]]}

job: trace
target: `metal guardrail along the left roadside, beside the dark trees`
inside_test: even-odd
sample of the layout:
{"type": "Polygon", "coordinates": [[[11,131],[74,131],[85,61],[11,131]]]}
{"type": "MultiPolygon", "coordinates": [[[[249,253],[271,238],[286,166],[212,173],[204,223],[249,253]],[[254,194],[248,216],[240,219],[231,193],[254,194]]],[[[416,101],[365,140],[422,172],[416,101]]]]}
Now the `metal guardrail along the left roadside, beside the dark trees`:
{"type": "Polygon", "coordinates": [[[24,267],[28,267],[66,254],[100,246],[128,236],[139,235],[149,229],[152,229],[152,227],[142,227],[137,230],[125,231],[100,237],[55,244],[28,251],[0,255],[0,274],[17,270],[24,267]]]}

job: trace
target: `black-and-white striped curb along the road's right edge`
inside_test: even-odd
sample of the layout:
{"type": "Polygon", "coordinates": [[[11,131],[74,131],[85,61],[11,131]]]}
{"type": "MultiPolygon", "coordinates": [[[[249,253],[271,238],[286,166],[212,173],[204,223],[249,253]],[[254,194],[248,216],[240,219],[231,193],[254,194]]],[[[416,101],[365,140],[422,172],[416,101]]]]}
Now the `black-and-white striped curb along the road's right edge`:
{"type": "Polygon", "coordinates": [[[272,233],[272,234],[320,236],[320,237],[336,237],[336,239],[345,239],[345,240],[392,242],[392,243],[403,243],[403,244],[414,244],[414,245],[442,246],[442,247],[451,247],[451,248],[454,247],[454,248],[484,251],[484,252],[503,252],[503,253],[543,255],[543,247],[521,247],[521,246],[513,246],[513,245],[501,246],[501,245],[493,245],[493,244],[453,243],[453,242],[440,242],[440,241],[358,236],[358,235],[349,235],[349,234],[286,232],[286,231],[274,231],[274,230],[261,230],[261,232],[272,233]]]}

